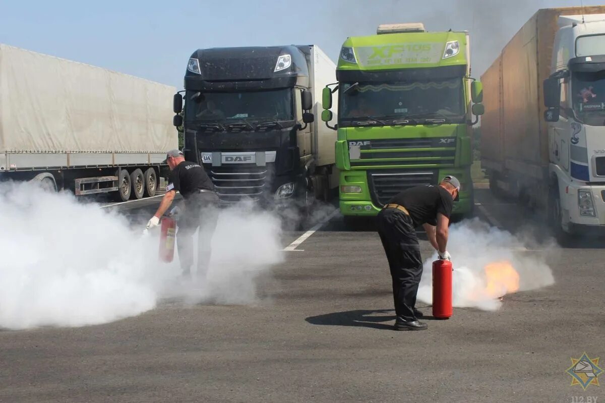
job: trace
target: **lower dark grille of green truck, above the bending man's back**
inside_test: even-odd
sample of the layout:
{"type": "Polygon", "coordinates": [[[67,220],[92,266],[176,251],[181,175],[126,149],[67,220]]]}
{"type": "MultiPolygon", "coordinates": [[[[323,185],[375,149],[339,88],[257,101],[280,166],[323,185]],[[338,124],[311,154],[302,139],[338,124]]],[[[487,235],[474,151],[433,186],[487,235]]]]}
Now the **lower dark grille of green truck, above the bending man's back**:
{"type": "Polygon", "coordinates": [[[397,193],[413,186],[435,185],[437,171],[385,170],[368,171],[368,183],[374,205],[384,206],[397,193]]]}

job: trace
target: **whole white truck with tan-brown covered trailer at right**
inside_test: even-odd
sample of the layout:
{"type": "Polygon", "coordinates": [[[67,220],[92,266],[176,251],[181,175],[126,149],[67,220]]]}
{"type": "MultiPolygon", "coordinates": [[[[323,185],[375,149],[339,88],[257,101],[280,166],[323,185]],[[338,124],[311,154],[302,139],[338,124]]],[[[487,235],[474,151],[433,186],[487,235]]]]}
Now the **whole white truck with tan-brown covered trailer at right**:
{"type": "Polygon", "coordinates": [[[482,76],[482,165],[563,240],[605,230],[605,6],[538,10],[482,76]]]}

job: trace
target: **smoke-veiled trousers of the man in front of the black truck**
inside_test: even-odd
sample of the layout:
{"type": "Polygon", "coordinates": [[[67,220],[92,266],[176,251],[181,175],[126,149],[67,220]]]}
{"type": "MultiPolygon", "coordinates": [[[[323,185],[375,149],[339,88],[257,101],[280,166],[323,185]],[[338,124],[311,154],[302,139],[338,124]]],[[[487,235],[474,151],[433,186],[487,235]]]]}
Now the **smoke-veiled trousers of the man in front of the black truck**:
{"type": "Polygon", "coordinates": [[[178,259],[183,272],[189,273],[193,265],[193,237],[199,228],[197,244],[197,274],[206,275],[211,257],[212,234],[218,220],[218,195],[201,192],[189,196],[183,203],[183,212],[177,221],[178,259]]]}

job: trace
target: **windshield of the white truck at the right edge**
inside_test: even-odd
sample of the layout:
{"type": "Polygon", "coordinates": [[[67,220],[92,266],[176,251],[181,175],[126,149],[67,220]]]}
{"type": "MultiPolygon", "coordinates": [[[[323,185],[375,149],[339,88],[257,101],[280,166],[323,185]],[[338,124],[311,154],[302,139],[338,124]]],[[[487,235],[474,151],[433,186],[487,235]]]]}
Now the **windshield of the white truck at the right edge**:
{"type": "Polygon", "coordinates": [[[572,74],[574,112],[590,126],[605,126],[605,71],[572,74]]]}

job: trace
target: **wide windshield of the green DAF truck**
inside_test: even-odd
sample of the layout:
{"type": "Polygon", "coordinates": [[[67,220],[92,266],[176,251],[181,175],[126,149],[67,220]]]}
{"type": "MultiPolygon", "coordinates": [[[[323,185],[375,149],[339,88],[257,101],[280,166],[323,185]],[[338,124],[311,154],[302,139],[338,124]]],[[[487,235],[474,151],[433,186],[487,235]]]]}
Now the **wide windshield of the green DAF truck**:
{"type": "MultiPolygon", "coordinates": [[[[418,82],[344,83],[339,91],[339,117],[405,119],[413,116],[464,122],[462,79],[418,82]]],[[[420,123],[420,122],[419,122],[420,123]]]]}

